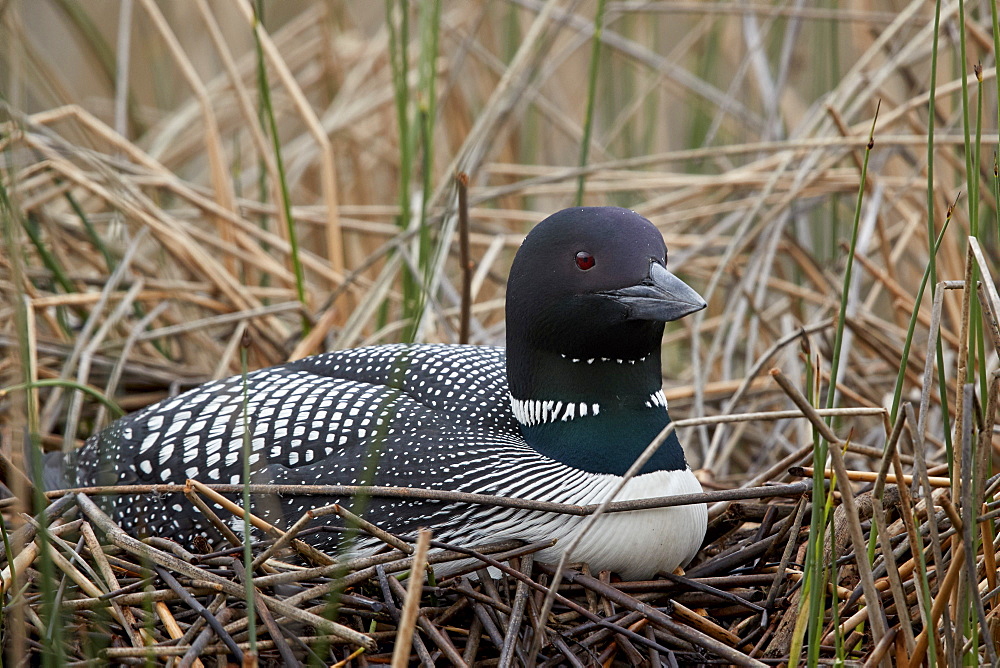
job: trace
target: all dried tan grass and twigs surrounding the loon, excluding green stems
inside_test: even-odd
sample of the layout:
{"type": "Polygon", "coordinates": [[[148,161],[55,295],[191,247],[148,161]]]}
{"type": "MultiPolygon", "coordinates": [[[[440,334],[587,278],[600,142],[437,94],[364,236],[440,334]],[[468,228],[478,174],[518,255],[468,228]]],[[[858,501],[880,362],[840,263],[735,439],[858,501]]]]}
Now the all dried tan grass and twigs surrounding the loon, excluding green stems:
{"type": "MultiPolygon", "coordinates": [[[[836,379],[840,406],[875,410],[841,409],[832,430],[824,432],[833,452],[849,445],[844,461],[833,461],[840,473],[833,554],[841,589],[836,617],[825,620],[825,642],[831,646],[822,656],[835,655],[832,643],[839,638],[844,656],[866,665],[878,665],[881,656],[916,665],[929,641],[939,662],[956,660],[967,651],[963,644],[987,660],[997,604],[997,485],[989,477],[997,447],[994,346],[1000,344],[1000,299],[990,278],[1000,245],[992,231],[996,180],[984,165],[979,204],[982,229],[990,231],[969,251],[968,209],[964,202],[955,208],[937,256],[941,283],[915,305],[932,242],[925,188],[932,6],[900,3],[893,7],[898,11],[888,12],[874,4],[825,9],[610,3],[590,164],[580,169],[575,165],[583,136],[592,5],[446,3],[428,199],[430,256],[417,242],[417,218],[398,205],[405,153],[381,9],[353,3],[275,6],[258,35],[304,269],[304,302],[297,295],[277,160],[258,117],[246,5],[199,1],[197,11],[187,13],[172,5],[136,3],[131,51],[118,54],[131,63],[131,74],[117,89],[115,51],[101,47],[115,41],[108,27],[117,20],[114,7],[13,3],[0,17],[2,177],[16,212],[4,214],[11,234],[4,238],[12,242],[0,253],[0,387],[34,383],[30,392],[37,406],[29,410],[22,391],[0,401],[3,451],[12,460],[4,467],[6,480],[22,490],[22,499],[28,498],[27,481],[18,487],[13,471],[24,468],[20,434],[26,424],[37,427],[46,448],[69,449],[114,417],[89,395],[41,381],[73,381],[135,410],[209,378],[238,373],[244,332],[250,333],[254,368],[321,349],[397,340],[414,325],[404,309],[403,276],[420,284],[428,266],[433,290],[417,338],[457,341],[462,272],[453,177],[459,169],[470,177],[472,343],[502,342],[504,277],[513,251],[532,223],[569,205],[584,175],[585,202],[626,205],[650,218],[664,232],[671,267],[709,301],[707,311],[670,328],[664,349],[673,414],[705,418],[684,427],[682,440],[706,488],[810,475],[794,467],[811,463],[813,430],[826,423],[793,418],[789,393],[801,388],[819,396],[807,381],[817,358],[817,382],[829,382],[842,243],[850,233],[844,221],[853,214],[859,161],[881,100],[836,379]],[[73,35],[75,41],[47,35],[73,35]],[[967,312],[963,317],[967,257],[984,276],[979,302],[986,313],[986,375],[979,378],[975,368],[982,381],[976,389],[987,388],[983,396],[963,387],[965,373],[955,367],[970,327],[967,312]],[[27,321],[18,329],[22,305],[27,321]],[[922,310],[905,360],[904,405],[894,429],[885,407],[916,306],[922,310]],[[303,322],[311,328],[308,335],[303,322]],[[938,333],[943,369],[934,355],[938,333]],[[772,367],[789,380],[784,390],[763,373],[772,367]],[[939,371],[947,384],[944,406],[939,371]],[[730,421],[737,413],[771,418],[730,421]],[[947,436],[946,415],[954,429],[947,436]],[[947,437],[955,444],[950,477],[942,469],[947,437]],[[887,443],[892,447],[886,449],[887,443]],[[881,472],[876,485],[892,480],[907,485],[898,488],[898,501],[890,499],[888,487],[883,498],[866,496],[870,479],[847,468],[881,472]],[[854,504],[840,505],[845,474],[859,496],[854,504]],[[941,477],[950,488],[936,487],[941,477]],[[880,505],[896,514],[874,512],[880,505]],[[851,569],[859,536],[869,531],[870,512],[880,538],[872,572],[861,574],[862,586],[851,569]],[[883,552],[888,544],[894,559],[883,552]],[[914,560],[918,554],[923,561],[914,560]],[[868,601],[873,587],[877,602],[868,601]],[[932,603],[930,610],[915,603],[919,596],[932,603]],[[981,603],[977,617],[988,628],[978,635],[973,631],[979,625],[963,628],[960,603],[981,603]],[[885,615],[884,635],[870,635],[879,627],[876,618],[866,617],[873,613],[885,615]],[[871,621],[859,626],[866,619],[871,621]]],[[[971,67],[945,55],[957,33],[957,14],[957,2],[942,3],[931,197],[938,229],[966,187],[958,95],[971,67]]],[[[996,70],[989,11],[977,6],[966,19],[970,53],[985,62],[990,98],[996,70]]],[[[417,51],[415,42],[411,58],[417,51]]],[[[995,118],[995,100],[985,103],[985,117],[995,118]]],[[[988,163],[996,133],[984,133],[982,143],[988,163]]],[[[419,209],[417,197],[409,200],[413,210],[419,209]]],[[[796,408],[794,415],[803,414],[803,407],[796,408]]],[[[67,519],[66,528],[53,529],[79,541],[78,550],[56,541],[55,554],[63,550],[56,566],[69,578],[60,589],[68,628],[80,638],[89,637],[84,629],[91,625],[115,634],[121,643],[115,660],[122,662],[129,651],[140,660],[148,650],[130,648],[150,638],[158,643],[158,656],[186,652],[199,642],[198,652],[206,657],[230,651],[201,632],[203,623],[175,598],[180,594],[170,589],[169,578],[142,561],[148,555],[138,551],[162,552],[160,547],[133,545],[130,552],[115,543],[98,549],[98,538],[104,538],[94,526],[109,537],[113,527],[97,523],[82,497],[69,498],[66,503],[82,510],[80,519],[86,521],[67,519]],[[74,551],[82,563],[70,554],[74,551]],[[108,562],[102,562],[105,554],[108,562]],[[141,592],[146,584],[161,593],[141,592]],[[127,592],[108,595],[119,589],[127,592]],[[99,606],[93,605],[110,605],[110,616],[91,612],[91,603],[84,603],[101,596],[99,606]],[[143,607],[158,596],[163,600],[143,607]],[[139,620],[141,630],[128,615],[139,620]],[[176,626],[170,618],[178,620],[176,626]],[[179,639],[167,640],[175,636],[179,639]]],[[[69,518],[70,506],[53,519],[69,518]]],[[[11,501],[5,508],[11,528],[30,531],[18,514],[27,507],[11,501]]],[[[699,594],[690,582],[671,579],[616,584],[606,577],[588,579],[585,572],[572,575],[560,589],[566,599],[557,601],[555,616],[546,622],[539,660],[586,664],[617,657],[659,665],[672,652],[682,663],[724,656],[735,662],[725,654],[729,650],[746,657],[787,657],[809,526],[803,518],[811,508],[801,493],[784,502],[713,507],[712,533],[688,576],[737,592],[738,601],[699,594]],[[762,600],[766,615],[754,607],[762,600]],[[588,615],[611,621],[584,622],[588,615]],[[684,629],[715,644],[698,644],[692,638],[702,636],[685,636],[684,629]],[[669,651],[649,652],[649,643],[669,651]]],[[[17,571],[33,574],[34,558],[26,548],[14,562],[17,571]]],[[[393,568],[405,563],[401,555],[395,558],[387,562],[393,568]]],[[[232,617],[223,625],[239,627],[245,624],[236,592],[242,585],[232,592],[218,589],[224,587],[219,580],[239,583],[227,559],[232,562],[228,556],[192,557],[204,571],[194,575],[154,563],[179,577],[182,589],[217,618],[229,611],[232,617]],[[217,585],[212,594],[199,589],[211,583],[217,585]]],[[[458,581],[425,588],[414,622],[418,658],[427,661],[441,652],[454,660],[457,651],[466,661],[528,660],[524,653],[539,628],[539,587],[544,589],[548,576],[524,553],[505,563],[506,576],[497,588],[483,583],[473,589],[458,581]]],[[[292,566],[273,567],[295,572],[292,566]]],[[[348,569],[362,572],[367,573],[348,569]]],[[[405,595],[393,589],[393,578],[372,573],[365,575],[368,585],[350,591],[355,598],[344,599],[341,622],[367,633],[375,620],[369,637],[384,651],[395,637],[394,611],[404,607],[405,595]]],[[[3,582],[13,584],[6,576],[3,582]]],[[[328,582],[317,576],[300,584],[311,591],[328,582]]],[[[35,601],[39,594],[32,586],[16,595],[9,591],[9,601],[35,601]]],[[[265,609],[284,596],[266,585],[262,592],[265,609]]],[[[8,642],[22,643],[26,655],[39,638],[40,612],[34,606],[9,609],[22,615],[26,634],[8,642]]],[[[279,626],[292,624],[292,617],[270,612],[279,626]]],[[[354,656],[358,643],[338,644],[343,639],[325,637],[321,626],[311,635],[292,635],[307,644],[334,643],[338,659],[354,656]]],[[[260,645],[262,658],[285,656],[280,636],[267,640],[276,648],[260,645]]],[[[301,654],[294,638],[289,651],[301,654]]],[[[234,640],[240,641],[238,633],[234,640]]],[[[377,656],[366,652],[352,661],[376,662],[377,656]]]]}

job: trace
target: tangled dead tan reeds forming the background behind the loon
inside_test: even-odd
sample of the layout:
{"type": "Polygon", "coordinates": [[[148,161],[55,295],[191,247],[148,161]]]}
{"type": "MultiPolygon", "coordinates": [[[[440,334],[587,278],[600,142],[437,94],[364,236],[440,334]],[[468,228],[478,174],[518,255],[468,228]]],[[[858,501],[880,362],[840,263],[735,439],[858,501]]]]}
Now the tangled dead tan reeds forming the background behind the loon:
{"type": "MultiPolygon", "coordinates": [[[[893,629],[883,651],[919,663],[919,634],[930,628],[938,661],[994,657],[998,339],[988,288],[997,259],[998,105],[990,3],[941,2],[936,29],[927,2],[610,1],[600,5],[593,74],[594,2],[446,1],[437,20],[434,6],[284,2],[266,4],[262,24],[247,3],[206,0],[2,6],[0,386],[9,391],[0,433],[14,467],[24,468],[25,427],[45,449],[69,450],[113,419],[115,407],[134,410],[239,373],[245,333],[251,368],[403,338],[457,341],[458,172],[470,179],[470,341],[502,343],[513,253],[535,222],[574,203],[582,182],[585,204],[628,206],[652,220],[672,270],[709,302],[664,341],[672,414],[706,418],[685,427],[682,440],[709,489],[812,475],[789,467],[812,462],[820,428],[766,372],[780,368],[822,405],[845,306],[837,406],[869,410],[841,411],[823,438],[850,441],[852,469],[884,473],[898,450],[898,474],[923,466],[928,482],[951,475],[942,488],[949,495],[935,501],[941,516],[924,534],[927,512],[918,506],[930,487],[915,485],[912,497],[904,490],[902,519],[887,518],[904,544],[920,537],[933,563],[921,571],[921,560],[911,561],[893,583],[899,591],[876,574],[891,608],[883,630],[893,629]],[[946,219],[920,300],[929,237],[946,219]],[[842,292],[852,233],[853,275],[842,292]],[[980,304],[971,329],[982,342],[970,357],[964,284],[935,283],[966,279],[973,233],[984,280],[978,295],[968,291],[980,304]],[[978,334],[977,323],[985,323],[978,334]],[[883,457],[901,366],[913,422],[883,457]],[[967,374],[977,397],[963,390],[967,374]],[[789,410],[797,412],[779,413],[789,410]],[[719,417],[760,412],[772,415],[719,417]],[[959,530],[962,517],[976,530],[959,530]],[[969,568],[962,549],[978,560],[969,568]],[[949,585],[952,564],[961,567],[949,585]],[[921,572],[927,595],[941,601],[933,622],[930,607],[915,602],[921,572]],[[976,608],[972,599],[981,614],[970,624],[957,611],[976,608]],[[895,612],[896,602],[910,614],[895,612]]],[[[723,519],[710,538],[723,542],[701,562],[770,536],[776,563],[760,557],[757,575],[779,561],[801,572],[804,557],[793,548],[808,539],[809,514],[803,520],[795,510],[806,504],[801,490],[795,498],[798,505],[767,504],[778,508],[771,511],[762,502],[740,521],[732,507],[715,508],[723,519]]],[[[869,529],[864,512],[845,512],[869,529]]],[[[848,529],[838,531],[840,539],[848,529]]],[[[841,547],[853,549],[850,540],[841,547]]],[[[797,610],[794,586],[786,589],[796,581],[770,580],[775,593],[755,585],[769,605],[785,607],[772,607],[759,632],[742,629],[742,640],[726,642],[748,657],[773,649],[769,656],[787,661],[795,647],[769,643],[782,633],[780,613],[797,610]]],[[[837,617],[821,624],[831,633],[858,609],[847,590],[849,600],[831,604],[841,606],[837,617]]],[[[22,593],[31,600],[32,592],[22,593]]],[[[732,618],[714,619],[742,632],[732,618]]],[[[870,632],[862,627],[858,642],[830,644],[823,656],[878,663],[886,636],[870,632]]],[[[28,636],[21,642],[31,646],[28,636]]],[[[554,651],[584,663],[636,660],[608,638],[592,643],[604,648],[593,655],[554,651]]],[[[495,649],[490,660],[503,659],[495,649]]]]}

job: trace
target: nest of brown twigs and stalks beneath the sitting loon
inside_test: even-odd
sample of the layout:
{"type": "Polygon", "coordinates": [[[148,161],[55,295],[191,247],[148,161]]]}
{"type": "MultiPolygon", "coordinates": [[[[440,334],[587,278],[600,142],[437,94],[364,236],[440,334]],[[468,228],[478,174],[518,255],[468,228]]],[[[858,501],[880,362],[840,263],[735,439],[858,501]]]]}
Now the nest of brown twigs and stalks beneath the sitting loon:
{"type": "MultiPolygon", "coordinates": [[[[884,657],[916,665],[929,645],[943,659],[953,651],[949,646],[955,639],[942,635],[937,617],[947,614],[953,595],[961,591],[956,589],[958,577],[964,575],[975,578],[972,589],[984,594],[965,605],[978,607],[986,657],[997,631],[991,539],[997,513],[986,508],[981,520],[987,521],[977,524],[963,510],[968,505],[956,508],[951,501],[947,479],[937,475],[942,467],[928,469],[919,457],[901,457],[894,448],[890,452],[887,464],[897,471],[913,469],[916,476],[901,486],[892,484],[898,473],[872,476],[878,494],[865,491],[837,507],[824,555],[837,573],[830,591],[837,614],[824,630],[819,655],[835,658],[839,638],[846,648],[839,650],[841,656],[865,665],[877,665],[884,657]],[[963,530],[973,524],[983,538],[990,538],[978,548],[971,547],[976,536],[963,530]],[[855,559],[855,541],[861,538],[864,554],[873,528],[879,539],[869,566],[867,558],[855,559]],[[888,546],[892,549],[883,551],[888,546]],[[917,601],[922,595],[933,600],[929,610],[935,619],[929,625],[923,623],[917,601]]],[[[842,458],[835,461],[843,466],[842,458]]],[[[869,478],[844,473],[851,479],[869,478]]],[[[986,481],[984,498],[998,486],[996,478],[986,481]]],[[[300,540],[305,534],[294,528],[284,532],[256,518],[266,539],[250,544],[253,573],[248,578],[244,546],[231,532],[234,544],[229,546],[222,540],[221,545],[205,540],[180,545],[169,537],[138,540],[126,534],[95,503],[102,494],[123,491],[142,490],[52,494],[54,502],[39,517],[11,534],[18,556],[13,569],[8,565],[3,571],[3,586],[17,591],[22,603],[5,614],[23,624],[15,627],[23,635],[12,642],[23,644],[27,652],[44,646],[41,637],[48,627],[43,620],[51,619],[51,612],[42,603],[42,589],[49,583],[56,589],[51,600],[70,664],[94,658],[142,664],[155,658],[189,666],[211,657],[239,662],[249,656],[266,665],[310,660],[366,665],[388,663],[394,651],[407,662],[428,666],[780,664],[789,660],[796,620],[806,605],[802,583],[810,515],[822,512],[825,504],[825,499],[813,503],[810,481],[650,501],[646,506],[699,500],[723,504],[683,576],[621,582],[611,573],[571,564],[553,587],[555,567],[531,556],[549,542],[466,546],[437,543],[428,536],[429,541],[418,539],[414,548],[412,539],[363,523],[360,530],[385,541],[384,549],[346,558],[317,552],[300,540]],[[43,524],[44,540],[38,535],[43,524]],[[43,549],[49,573],[37,570],[43,549]],[[434,565],[455,561],[463,562],[458,573],[425,582],[434,565]],[[553,604],[543,624],[539,614],[547,596],[553,604]]],[[[183,490],[163,486],[146,491],[184,491],[178,498],[195,503],[218,526],[225,523],[210,504],[242,514],[238,504],[219,494],[235,491],[228,487],[192,482],[183,490]]],[[[605,512],[626,508],[612,505],[605,512]]]]}

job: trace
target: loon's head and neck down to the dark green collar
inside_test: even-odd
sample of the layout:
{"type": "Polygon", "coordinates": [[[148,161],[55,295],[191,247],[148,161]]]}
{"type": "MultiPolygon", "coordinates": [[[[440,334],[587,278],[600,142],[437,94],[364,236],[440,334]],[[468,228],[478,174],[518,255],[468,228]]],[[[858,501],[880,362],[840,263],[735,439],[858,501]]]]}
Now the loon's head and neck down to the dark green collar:
{"type": "MultiPolygon", "coordinates": [[[[666,265],[659,230],[628,209],[565,209],[527,235],[507,282],[507,376],[530,445],[618,472],[669,423],[664,323],[706,304],[666,265]],[[620,457],[610,461],[608,448],[620,457]]],[[[661,467],[682,464],[679,445],[663,450],[661,467]]]]}

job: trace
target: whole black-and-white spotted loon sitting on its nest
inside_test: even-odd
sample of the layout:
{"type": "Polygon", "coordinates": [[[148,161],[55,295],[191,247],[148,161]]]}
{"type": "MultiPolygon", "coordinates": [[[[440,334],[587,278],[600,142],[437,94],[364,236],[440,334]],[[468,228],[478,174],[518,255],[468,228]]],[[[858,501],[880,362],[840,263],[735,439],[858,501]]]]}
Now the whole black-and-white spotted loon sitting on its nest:
{"type": "MultiPolygon", "coordinates": [[[[554,214],[527,236],[507,290],[506,350],[378,345],[207,383],[129,415],[87,441],[77,483],[243,481],[244,432],[254,483],[375,484],[573,504],[600,503],[670,422],[661,390],[664,322],[704,301],[666,270],[656,228],[611,207],[554,214]]],[[[675,435],[616,500],[701,491],[675,435]]],[[[337,499],[261,498],[254,512],[289,525],[337,499]],[[270,502],[269,502],[270,501],[270,502]]],[[[340,501],[344,501],[341,499],[340,501]]],[[[132,532],[214,536],[172,496],[113,497],[132,532]]],[[[364,516],[395,533],[430,527],[445,542],[556,538],[558,559],[584,518],[510,508],[372,498],[364,516]]],[[[241,523],[240,523],[241,524],[241,523]]],[[[689,561],[703,505],[599,518],[573,553],[595,570],[651,577],[689,561]]],[[[333,532],[309,537],[322,549],[333,532]]],[[[360,541],[364,551],[374,541],[360,541]]]]}

